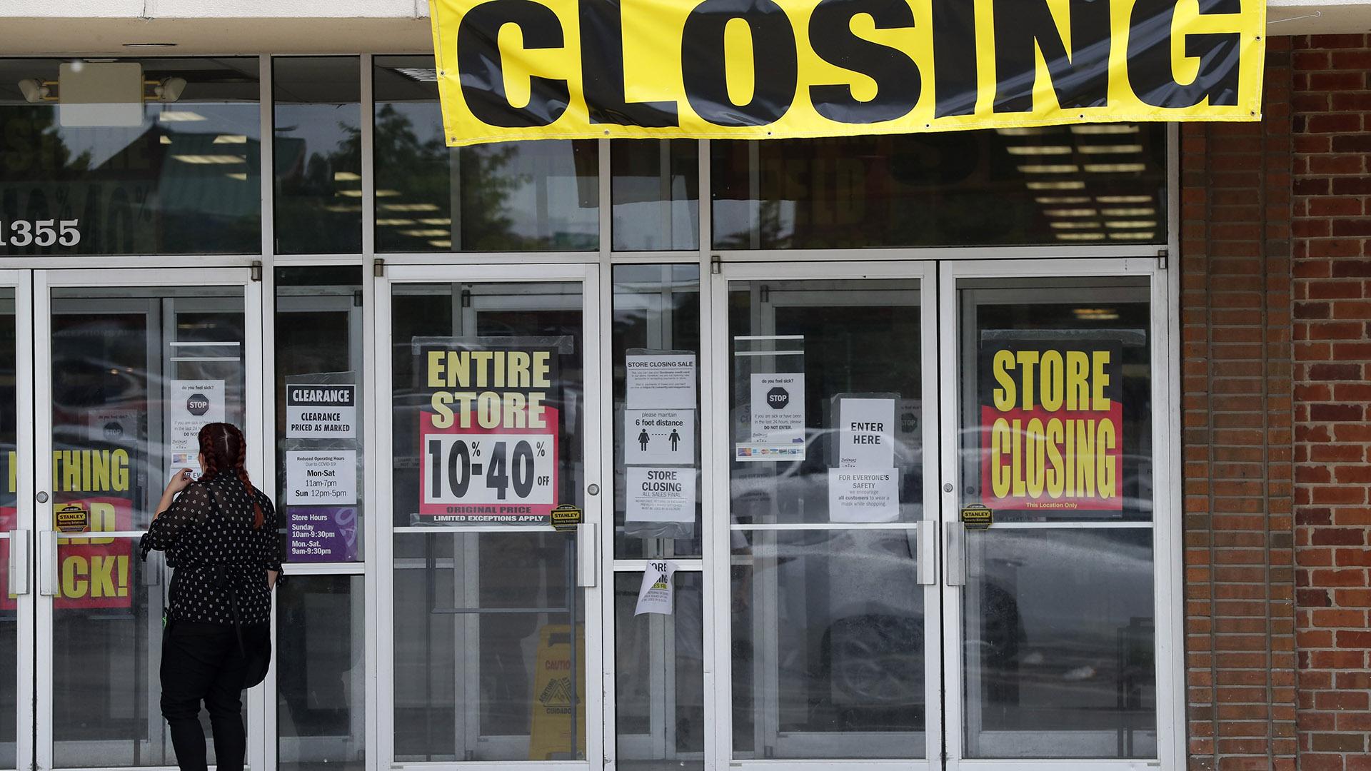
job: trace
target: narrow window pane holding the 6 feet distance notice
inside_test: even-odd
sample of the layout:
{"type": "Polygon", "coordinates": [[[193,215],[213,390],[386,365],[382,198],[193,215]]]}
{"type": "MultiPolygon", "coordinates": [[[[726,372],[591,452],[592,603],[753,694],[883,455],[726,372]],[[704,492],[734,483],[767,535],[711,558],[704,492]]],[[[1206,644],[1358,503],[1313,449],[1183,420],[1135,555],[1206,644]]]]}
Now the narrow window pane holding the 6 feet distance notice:
{"type": "Polygon", "coordinates": [[[613,355],[614,557],[698,558],[698,265],[614,268],[613,355]],[[662,372],[679,376],[668,383],[662,372]],[[651,499],[643,491],[653,472],[679,477],[688,494],[651,499]]]}

